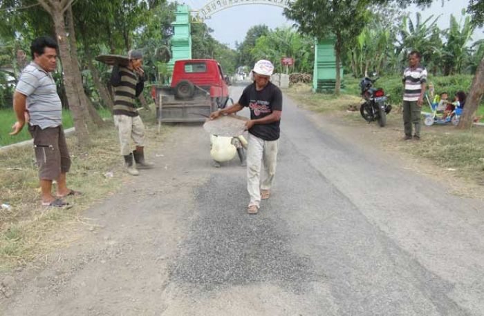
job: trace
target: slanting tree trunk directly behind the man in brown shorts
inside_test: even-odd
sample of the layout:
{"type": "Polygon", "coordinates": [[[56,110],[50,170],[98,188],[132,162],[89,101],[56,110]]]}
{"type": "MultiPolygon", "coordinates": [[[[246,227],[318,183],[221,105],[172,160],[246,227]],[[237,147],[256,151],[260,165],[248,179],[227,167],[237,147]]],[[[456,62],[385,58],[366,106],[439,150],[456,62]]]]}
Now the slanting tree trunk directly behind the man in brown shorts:
{"type": "Polygon", "coordinates": [[[69,108],[73,115],[77,145],[81,148],[86,148],[91,144],[91,139],[89,138],[86,121],[84,120],[84,113],[79,103],[79,99],[77,98],[77,90],[74,83],[75,74],[73,67],[77,67],[77,65],[74,65],[71,59],[64,24],[64,14],[62,14],[62,9],[58,8],[58,6],[59,5],[57,4],[57,8],[54,8],[51,14],[54,21],[55,34],[57,35],[57,43],[59,43],[59,55],[62,59],[62,68],[64,69],[64,86],[66,88],[69,108]]]}

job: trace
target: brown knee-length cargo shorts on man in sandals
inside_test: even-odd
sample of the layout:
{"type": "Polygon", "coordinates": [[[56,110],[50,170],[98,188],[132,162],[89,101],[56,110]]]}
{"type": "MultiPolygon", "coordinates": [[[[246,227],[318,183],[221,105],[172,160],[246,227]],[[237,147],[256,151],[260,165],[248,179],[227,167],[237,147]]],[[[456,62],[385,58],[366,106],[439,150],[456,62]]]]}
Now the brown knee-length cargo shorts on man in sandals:
{"type": "Polygon", "coordinates": [[[55,180],[61,172],[71,169],[71,156],[66,144],[62,126],[41,129],[40,126],[28,126],[34,139],[35,158],[39,167],[39,179],[55,180]]]}

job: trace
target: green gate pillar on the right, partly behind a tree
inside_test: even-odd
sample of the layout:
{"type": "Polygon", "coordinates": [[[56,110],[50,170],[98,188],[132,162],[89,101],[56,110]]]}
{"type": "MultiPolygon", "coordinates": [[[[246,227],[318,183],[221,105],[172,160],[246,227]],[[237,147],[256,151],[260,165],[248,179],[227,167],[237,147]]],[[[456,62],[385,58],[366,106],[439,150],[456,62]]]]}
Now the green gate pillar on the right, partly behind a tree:
{"type": "MultiPolygon", "coordinates": [[[[343,67],[341,67],[343,81],[343,67]]],[[[335,39],[315,39],[315,66],[313,70],[313,91],[334,91],[336,85],[335,39]]],[[[343,88],[343,84],[342,84],[343,88]]]]}

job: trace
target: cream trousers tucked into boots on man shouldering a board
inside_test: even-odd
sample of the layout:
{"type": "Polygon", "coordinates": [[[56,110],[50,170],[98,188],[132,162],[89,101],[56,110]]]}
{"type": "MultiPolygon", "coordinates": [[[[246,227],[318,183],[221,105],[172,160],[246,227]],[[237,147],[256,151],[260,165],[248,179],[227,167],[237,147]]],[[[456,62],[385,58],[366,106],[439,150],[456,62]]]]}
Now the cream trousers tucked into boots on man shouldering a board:
{"type": "Polygon", "coordinates": [[[113,120],[120,136],[121,155],[127,156],[131,152],[131,139],[136,146],[145,146],[145,124],[139,116],[113,115],[113,120]]]}

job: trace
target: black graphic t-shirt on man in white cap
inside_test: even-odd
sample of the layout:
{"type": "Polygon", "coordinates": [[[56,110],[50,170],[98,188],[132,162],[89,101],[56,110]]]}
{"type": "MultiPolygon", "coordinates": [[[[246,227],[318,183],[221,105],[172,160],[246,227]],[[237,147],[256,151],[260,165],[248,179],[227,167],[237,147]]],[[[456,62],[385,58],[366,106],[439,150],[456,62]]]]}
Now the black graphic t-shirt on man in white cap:
{"type": "MultiPolygon", "coordinates": [[[[239,103],[241,106],[250,108],[250,119],[261,119],[270,115],[274,110],[282,110],[282,92],[270,81],[260,91],[257,91],[255,83],[252,83],[243,90],[239,103]]],[[[280,123],[279,120],[270,124],[254,124],[249,132],[265,141],[275,141],[279,139],[280,123]]]]}

